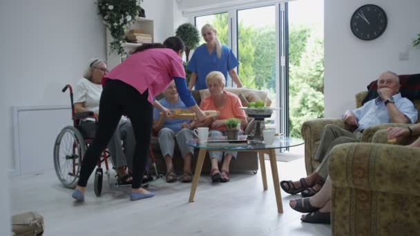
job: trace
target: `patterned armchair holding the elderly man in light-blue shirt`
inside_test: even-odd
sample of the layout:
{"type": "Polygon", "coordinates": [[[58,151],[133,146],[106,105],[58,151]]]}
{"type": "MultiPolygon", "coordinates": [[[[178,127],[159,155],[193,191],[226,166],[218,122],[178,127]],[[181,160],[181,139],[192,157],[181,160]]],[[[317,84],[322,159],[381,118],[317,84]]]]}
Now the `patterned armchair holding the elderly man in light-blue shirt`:
{"type": "MultiPolygon", "coordinates": [[[[359,92],[356,94],[356,108],[361,107],[363,99],[366,97],[367,91],[359,92]]],[[[413,101],[414,106],[417,110],[420,110],[420,100],[413,101]]],[[[344,110],[343,110],[344,112],[344,110]]],[[[419,119],[420,121],[420,119],[419,119]]],[[[419,122],[417,121],[417,122],[419,122]]],[[[314,173],[316,167],[321,164],[321,162],[316,161],[314,159],[316,150],[319,148],[320,140],[321,140],[321,132],[323,128],[327,124],[334,124],[346,130],[352,130],[351,126],[348,126],[344,123],[342,119],[312,119],[309,121],[305,121],[302,124],[302,128],[300,129],[300,133],[302,134],[303,139],[305,140],[305,167],[307,175],[314,173]]],[[[362,142],[371,142],[373,139],[374,134],[378,130],[386,129],[390,126],[409,126],[409,124],[383,124],[379,126],[372,126],[367,128],[361,137],[362,142]]]]}

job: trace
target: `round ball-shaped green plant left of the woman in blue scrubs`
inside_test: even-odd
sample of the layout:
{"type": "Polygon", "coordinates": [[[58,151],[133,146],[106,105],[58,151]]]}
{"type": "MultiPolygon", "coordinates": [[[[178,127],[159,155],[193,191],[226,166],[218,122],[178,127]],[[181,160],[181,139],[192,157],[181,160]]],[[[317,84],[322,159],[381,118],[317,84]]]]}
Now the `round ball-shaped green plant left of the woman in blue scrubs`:
{"type": "Polygon", "coordinates": [[[175,30],[175,35],[180,37],[185,43],[185,57],[189,61],[189,52],[200,43],[200,33],[192,23],[183,23],[175,30]]]}

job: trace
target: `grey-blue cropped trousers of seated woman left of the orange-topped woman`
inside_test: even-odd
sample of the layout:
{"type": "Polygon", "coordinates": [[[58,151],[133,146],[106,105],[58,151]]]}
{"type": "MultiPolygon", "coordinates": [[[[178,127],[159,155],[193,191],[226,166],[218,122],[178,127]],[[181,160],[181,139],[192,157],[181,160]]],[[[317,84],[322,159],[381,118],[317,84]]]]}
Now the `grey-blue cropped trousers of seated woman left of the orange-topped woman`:
{"type": "Polygon", "coordinates": [[[189,153],[194,155],[194,148],[187,145],[187,141],[191,139],[193,139],[193,130],[190,130],[189,128],[183,128],[176,134],[170,128],[162,128],[158,134],[160,151],[162,152],[163,157],[166,157],[166,155],[173,157],[175,140],[180,149],[182,158],[189,153]]]}

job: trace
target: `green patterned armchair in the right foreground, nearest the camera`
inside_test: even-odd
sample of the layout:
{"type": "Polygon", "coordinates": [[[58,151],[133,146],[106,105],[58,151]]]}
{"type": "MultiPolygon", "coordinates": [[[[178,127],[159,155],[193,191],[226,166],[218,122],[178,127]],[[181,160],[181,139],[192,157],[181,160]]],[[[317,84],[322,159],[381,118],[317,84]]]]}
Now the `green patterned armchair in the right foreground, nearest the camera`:
{"type": "Polygon", "coordinates": [[[419,234],[420,148],[376,143],[386,140],[380,130],[332,149],[332,235],[419,234]]]}

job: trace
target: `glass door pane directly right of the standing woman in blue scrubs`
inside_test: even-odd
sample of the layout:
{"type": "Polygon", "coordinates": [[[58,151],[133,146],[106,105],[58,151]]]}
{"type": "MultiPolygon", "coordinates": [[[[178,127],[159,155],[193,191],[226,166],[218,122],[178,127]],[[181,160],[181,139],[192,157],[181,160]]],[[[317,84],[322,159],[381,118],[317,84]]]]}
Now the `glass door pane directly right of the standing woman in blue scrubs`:
{"type": "MultiPolygon", "coordinates": [[[[238,75],[244,86],[268,90],[271,107],[278,107],[276,93],[276,6],[237,11],[238,75]]],[[[276,112],[266,128],[276,129],[276,112]]]]}

